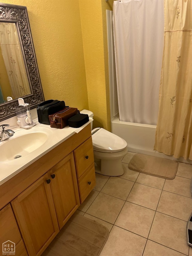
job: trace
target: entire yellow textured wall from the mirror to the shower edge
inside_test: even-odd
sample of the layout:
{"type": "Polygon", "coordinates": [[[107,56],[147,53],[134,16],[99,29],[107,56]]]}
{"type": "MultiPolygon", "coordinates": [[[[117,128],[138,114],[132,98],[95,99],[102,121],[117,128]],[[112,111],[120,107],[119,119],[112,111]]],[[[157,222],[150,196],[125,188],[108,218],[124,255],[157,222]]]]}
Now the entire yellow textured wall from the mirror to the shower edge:
{"type": "Polygon", "coordinates": [[[106,9],[113,0],[4,0],[27,6],[45,100],[94,112],[110,130],[106,9]]]}

